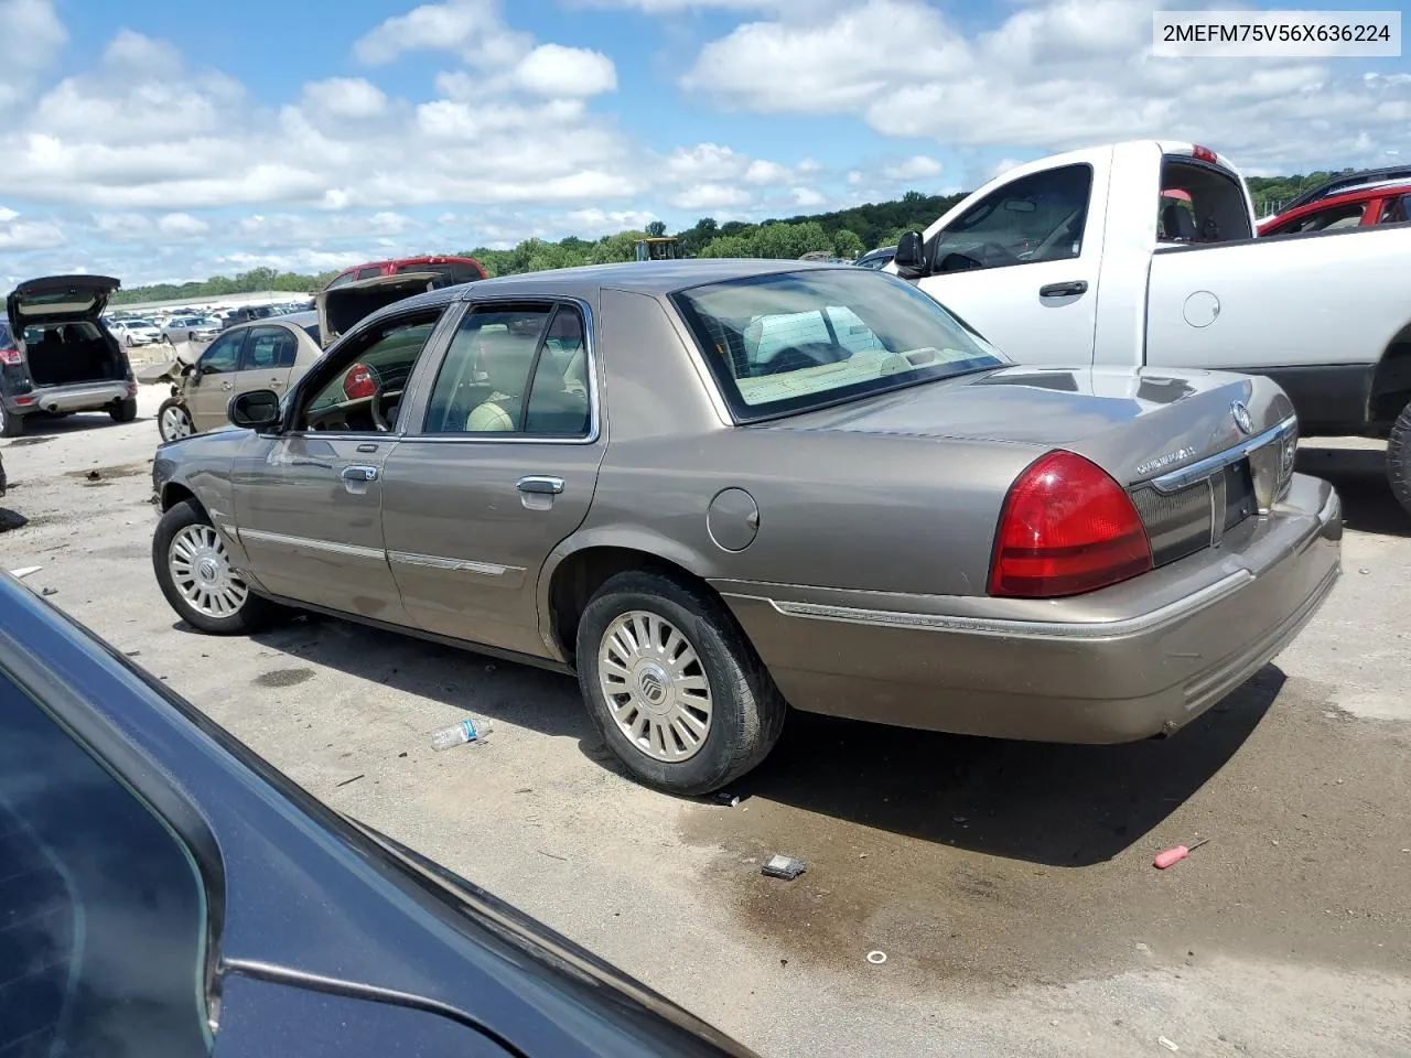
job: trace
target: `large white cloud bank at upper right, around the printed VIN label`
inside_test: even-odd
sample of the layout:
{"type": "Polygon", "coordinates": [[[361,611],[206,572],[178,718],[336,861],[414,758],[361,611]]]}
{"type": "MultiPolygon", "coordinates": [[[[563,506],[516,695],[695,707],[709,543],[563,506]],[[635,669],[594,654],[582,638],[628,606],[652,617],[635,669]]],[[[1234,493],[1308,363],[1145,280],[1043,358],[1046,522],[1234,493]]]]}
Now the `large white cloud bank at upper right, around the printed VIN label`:
{"type": "Polygon", "coordinates": [[[893,137],[1034,152],[1209,142],[1246,172],[1374,164],[1411,147],[1411,80],[1346,61],[1157,59],[1153,4],[1037,0],[962,32],[921,0],[787,8],[706,44],[682,85],[758,113],[862,117],[893,137]]]}

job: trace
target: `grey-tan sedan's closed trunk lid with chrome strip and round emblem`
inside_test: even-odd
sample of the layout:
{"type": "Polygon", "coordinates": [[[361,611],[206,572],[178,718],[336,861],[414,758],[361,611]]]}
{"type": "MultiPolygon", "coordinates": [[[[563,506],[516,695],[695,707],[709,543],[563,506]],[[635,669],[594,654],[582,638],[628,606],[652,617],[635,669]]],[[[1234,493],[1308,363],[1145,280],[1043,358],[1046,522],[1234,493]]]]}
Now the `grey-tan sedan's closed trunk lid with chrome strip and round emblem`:
{"type": "Polygon", "coordinates": [[[1132,497],[1157,566],[1277,502],[1298,436],[1288,396],[1266,378],[1147,368],[1010,367],[768,427],[1027,444],[1036,458],[1074,451],[1132,497]]]}

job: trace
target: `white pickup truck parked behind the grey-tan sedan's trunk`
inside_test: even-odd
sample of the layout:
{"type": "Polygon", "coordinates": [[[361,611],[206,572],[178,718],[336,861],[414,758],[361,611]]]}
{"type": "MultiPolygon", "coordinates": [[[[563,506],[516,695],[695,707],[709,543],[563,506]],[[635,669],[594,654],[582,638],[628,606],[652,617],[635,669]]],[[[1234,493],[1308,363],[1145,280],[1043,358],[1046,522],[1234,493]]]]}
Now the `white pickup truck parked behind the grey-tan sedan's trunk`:
{"type": "Polygon", "coordinates": [[[1141,140],[1009,169],[888,271],[1022,364],[1268,375],[1302,436],[1387,437],[1411,511],[1411,224],[1254,231],[1228,159],[1141,140]]]}

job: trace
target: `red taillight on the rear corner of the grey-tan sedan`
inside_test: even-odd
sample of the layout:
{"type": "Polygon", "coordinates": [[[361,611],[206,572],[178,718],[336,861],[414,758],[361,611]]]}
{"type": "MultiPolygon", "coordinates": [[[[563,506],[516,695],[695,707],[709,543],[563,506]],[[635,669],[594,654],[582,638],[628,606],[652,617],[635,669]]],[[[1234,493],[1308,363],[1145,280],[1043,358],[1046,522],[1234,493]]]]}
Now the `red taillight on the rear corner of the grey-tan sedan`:
{"type": "Polygon", "coordinates": [[[1005,498],[989,592],[1078,595],[1150,568],[1146,529],[1122,487],[1082,456],[1051,451],[1005,498]]]}

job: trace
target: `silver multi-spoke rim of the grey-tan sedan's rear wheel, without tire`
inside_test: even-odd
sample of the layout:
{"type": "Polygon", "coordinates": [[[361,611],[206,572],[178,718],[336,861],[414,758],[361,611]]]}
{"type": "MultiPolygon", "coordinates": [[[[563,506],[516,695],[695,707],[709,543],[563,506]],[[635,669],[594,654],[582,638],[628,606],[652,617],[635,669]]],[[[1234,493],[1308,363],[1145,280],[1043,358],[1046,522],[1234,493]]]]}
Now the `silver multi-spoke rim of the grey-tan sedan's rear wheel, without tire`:
{"type": "Polygon", "coordinates": [[[672,622],[641,609],[617,618],[598,646],[598,680],[618,729],[653,760],[680,763],[706,745],[710,681],[672,622]]]}

